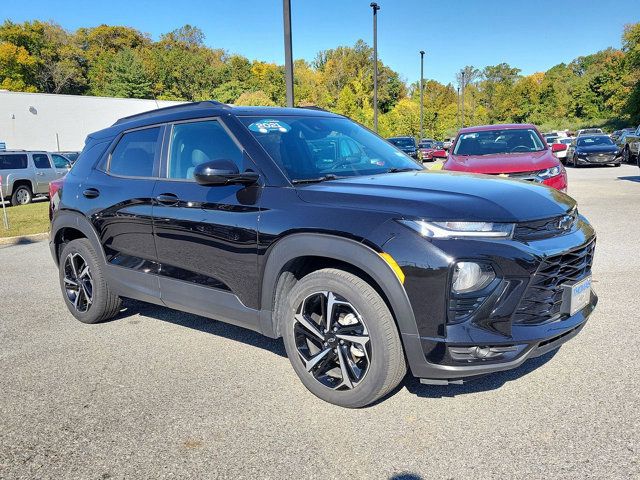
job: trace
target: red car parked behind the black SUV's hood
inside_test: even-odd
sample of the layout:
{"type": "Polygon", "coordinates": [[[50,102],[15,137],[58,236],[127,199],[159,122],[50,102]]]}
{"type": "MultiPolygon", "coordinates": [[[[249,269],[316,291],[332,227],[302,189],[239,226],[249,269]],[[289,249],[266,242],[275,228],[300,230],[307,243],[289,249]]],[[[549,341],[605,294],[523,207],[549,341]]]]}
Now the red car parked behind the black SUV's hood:
{"type": "Polygon", "coordinates": [[[463,128],[442,168],[529,180],[567,190],[564,167],[538,129],[530,124],[463,128]]]}

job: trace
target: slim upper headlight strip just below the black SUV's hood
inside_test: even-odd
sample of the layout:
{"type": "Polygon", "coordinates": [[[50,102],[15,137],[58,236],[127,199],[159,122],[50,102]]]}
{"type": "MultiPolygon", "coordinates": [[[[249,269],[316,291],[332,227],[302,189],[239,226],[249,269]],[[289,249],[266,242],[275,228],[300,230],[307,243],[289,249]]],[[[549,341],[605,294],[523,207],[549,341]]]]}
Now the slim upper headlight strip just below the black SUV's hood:
{"type": "Polygon", "coordinates": [[[513,223],[398,221],[428,238],[511,238],[514,227],[513,223]]]}

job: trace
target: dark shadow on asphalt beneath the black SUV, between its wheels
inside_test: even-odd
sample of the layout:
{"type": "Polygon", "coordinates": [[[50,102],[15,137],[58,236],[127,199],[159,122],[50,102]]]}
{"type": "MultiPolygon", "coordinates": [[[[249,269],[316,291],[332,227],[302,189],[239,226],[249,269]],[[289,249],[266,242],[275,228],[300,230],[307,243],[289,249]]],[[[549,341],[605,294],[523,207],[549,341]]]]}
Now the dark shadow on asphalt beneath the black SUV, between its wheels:
{"type": "MultiPolygon", "coordinates": [[[[137,300],[124,299],[123,308],[114,320],[123,320],[135,315],[144,315],[163,322],[173,323],[182,327],[192,328],[204,333],[210,333],[236,342],[242,342],[252,347],[262,348],[281,357],[286,357],[282,339],[273,339],[264,335],[237,327],[229,323],[212,320],[192,313],[180,312],[168,307],[154,305],[152,303],[139,302],[137,300]]],[[[136,320],[131,320],[136,322],[136,320]]]]}

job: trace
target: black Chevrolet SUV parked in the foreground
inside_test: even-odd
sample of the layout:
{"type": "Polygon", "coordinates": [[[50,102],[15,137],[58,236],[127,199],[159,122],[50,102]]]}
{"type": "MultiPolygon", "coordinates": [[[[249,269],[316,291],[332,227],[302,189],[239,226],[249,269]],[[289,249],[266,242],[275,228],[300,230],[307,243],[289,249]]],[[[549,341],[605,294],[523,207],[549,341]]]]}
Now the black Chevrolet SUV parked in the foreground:
{"type": "MultiPolygon", "coordinates": [[[[71,313],[128,297],[283,337],[318,397],[360,407],[514,368],[584,326],[595,234],[567,195],[428,172],[310,109],[200,102],[91,134],[52,185],[71,313]]],[[[242,365],[238,365],[242,369],[242,365]]]]}

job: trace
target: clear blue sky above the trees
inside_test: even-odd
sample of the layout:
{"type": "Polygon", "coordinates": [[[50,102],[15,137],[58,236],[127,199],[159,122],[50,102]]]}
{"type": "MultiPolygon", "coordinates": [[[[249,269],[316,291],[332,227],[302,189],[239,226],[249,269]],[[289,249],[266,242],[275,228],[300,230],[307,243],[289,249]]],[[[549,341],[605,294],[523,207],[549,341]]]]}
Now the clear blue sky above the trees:
{"type": "MultiPolygon", "coordinates": [[[[184,24],[205,43],[251,60],[284,63],[282,0],[2,0],[0,20],[53,20],[67,30],[127,25],[158,39],[184,24]]],[[[293,56],[372,45],[371,0],[291,0],[293,56]]],[[[607,47],[640,21],[640,0],[377,0],[378,56],[407,82],[454,83],[465,65],[501,62],[528,75],[607,47]]]]}

